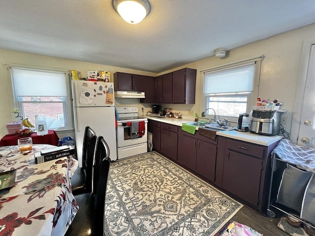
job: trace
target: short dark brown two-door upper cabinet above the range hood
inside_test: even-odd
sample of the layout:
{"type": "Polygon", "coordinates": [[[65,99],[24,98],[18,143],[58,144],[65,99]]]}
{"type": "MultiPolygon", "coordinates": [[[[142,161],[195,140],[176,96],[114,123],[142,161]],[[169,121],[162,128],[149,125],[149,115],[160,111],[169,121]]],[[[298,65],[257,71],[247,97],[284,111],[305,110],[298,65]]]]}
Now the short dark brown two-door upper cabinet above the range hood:
{"type": "Polygon", "coordinates": [[[114,73],[115,91],[145,91],[145,76],[123,72],[114,73]]]}

